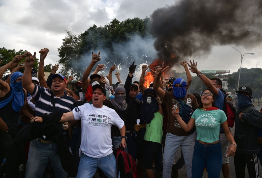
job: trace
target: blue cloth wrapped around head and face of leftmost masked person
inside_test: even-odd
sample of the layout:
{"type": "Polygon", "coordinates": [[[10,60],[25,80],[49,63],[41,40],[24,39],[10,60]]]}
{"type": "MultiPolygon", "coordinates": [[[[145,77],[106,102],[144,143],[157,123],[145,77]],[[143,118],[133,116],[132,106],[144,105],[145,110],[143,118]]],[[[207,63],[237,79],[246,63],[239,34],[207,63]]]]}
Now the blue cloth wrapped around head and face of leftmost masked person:
{"type": "Polygon", "coordinates": [[[18,77],[22,77],[23,74],[21,72],[14,72],[11,77],[10,87],[12,89],[12,93],[10,97],[2,102],[0,102],[0,108],[5,107],[12,99],[12,107],[14,111],[20,111],[22,106],[24,105],[24,92],[22,91],[22,82],[15,82],[18,77]]]}

